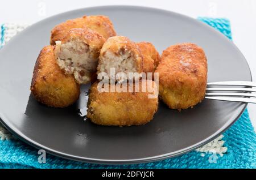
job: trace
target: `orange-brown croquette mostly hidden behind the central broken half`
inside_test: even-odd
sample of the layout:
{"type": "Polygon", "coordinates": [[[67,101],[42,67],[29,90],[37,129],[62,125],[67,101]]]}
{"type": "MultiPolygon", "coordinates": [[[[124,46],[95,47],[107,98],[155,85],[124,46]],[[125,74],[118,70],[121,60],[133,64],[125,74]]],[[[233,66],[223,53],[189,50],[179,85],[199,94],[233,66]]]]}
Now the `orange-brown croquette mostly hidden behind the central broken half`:
{"type": "Polygon", "coordinates": [[[160,61],[160,55],[150,42],[138,42],[143,57],[143,72],[154,72],[160,61]]]}

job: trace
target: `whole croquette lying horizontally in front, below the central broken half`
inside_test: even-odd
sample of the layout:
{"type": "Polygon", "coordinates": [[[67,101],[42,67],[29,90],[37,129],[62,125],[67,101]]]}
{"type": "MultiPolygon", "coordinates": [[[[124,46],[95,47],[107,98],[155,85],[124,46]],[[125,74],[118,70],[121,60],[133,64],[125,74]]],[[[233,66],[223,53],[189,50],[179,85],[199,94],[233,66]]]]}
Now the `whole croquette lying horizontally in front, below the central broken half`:
{"type": "MultiPolygon", "coordinates": [[[[142,82],[137,83],[142,86],[142,82]]],[[[152,88],[156,87],[154,81],[150,83],[152,88]]],[[[89,91],[86,117],[93,123],[104,126],[144,125],[154,117],[158,109],[158,91],[149,98],[153,95],[152,91],[140,88],[138,92],[100,92],[98,84],[94,83],[89,91]]],[[[109,88],[112,87],[109,85],[109,88]]]]}

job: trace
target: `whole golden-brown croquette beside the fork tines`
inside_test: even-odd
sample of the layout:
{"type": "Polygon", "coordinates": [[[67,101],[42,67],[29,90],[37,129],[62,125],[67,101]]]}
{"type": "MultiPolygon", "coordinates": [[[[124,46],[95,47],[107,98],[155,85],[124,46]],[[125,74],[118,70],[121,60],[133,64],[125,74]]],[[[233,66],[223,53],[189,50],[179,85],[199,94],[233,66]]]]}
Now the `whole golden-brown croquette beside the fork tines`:
{"type": "Polygon", "coordinates": [[[159,97],[171,109],[192,108],[204,99],[207,87],[207,58],[191,43],[163,51],[159,66],[159,97]]]}

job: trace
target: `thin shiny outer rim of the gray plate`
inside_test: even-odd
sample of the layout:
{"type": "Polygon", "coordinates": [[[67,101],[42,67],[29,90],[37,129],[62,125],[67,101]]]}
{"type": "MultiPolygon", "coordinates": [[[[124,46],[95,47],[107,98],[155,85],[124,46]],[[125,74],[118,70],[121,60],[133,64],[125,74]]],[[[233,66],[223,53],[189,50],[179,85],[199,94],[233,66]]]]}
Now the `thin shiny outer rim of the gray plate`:
{"type": "MultiPolygon", "coordinates": [[[[252,81],[252,75],[251,75],[251,70],[250,70],[250,66],[245,58],[245,56],[242,54],[242,52],[240,51],[240,49],[237,48],[237,46],[233,43],[233,41],[230,41],[228,37],[226,37],[225,35],[223,35],[221,32],[217,31],[216,29],[214,29],[213,27],[210,27],[209,25],[200,22],[199,20],[196,20],[194,18],[191,18],[187,15],[183,15],[177,12],[173,12],[173,11],[169,11],[169,10],[165,10],[162,8],[154,8],[154,7],[147,7],[147,6],[130,6],[130,5],[110,5],[110,6],[91,6],[91,7],[84,7],[84,8],[77,8],[75,10],[71,10],[71,11],[65,11],[65,12],[61,12],[59,14],[53,15],[53,16],[49,16],[46,19],[42,19],[39,22],[36,22],[32,25],[30,25],[29,27],[27,27],[26,29],[24,29],[24,31],[20,32],[18,35],[16,36],[22,36],[23,33],[26,32],[27,29],[30,28],[34,28],[36,27],[38,24],[50,20],[50,19],[54,19],[57,16],[63,15],[63,14],[72,14],[72,12],[76,12],[76,11],[82,11],[82,10],[92,10],[93,8],[137,8],[137,9],[141,9],[141,10],[151,10],[151,11],[160,11],[160,12],[165,12],[168,14],[174,14],[177,16],[181,16],[182,18],[185,19],[189,19],[197,24],[203,25],[204,27],[207,27],[210,31],[214,31],[215,33],[218,33],[218,35],[222,36],[222,38],[225,38],[226,40],[229,41],[230,45],[232,45],[237,52],[239,52],[241,54],[241,56],[243,57],[243,60],[245,61],[247,67],[249,68],[249,73],[250,73],[250,81],[252,81]]],[[[14,38],[11,38],[10,41],[13,41],[16,36],[14,38]]],[[[8,45],[7,45],[8,46],[8,45]]],[[[2,49],[5,49],[6,45],[2,47],[2,49]]],[[[57,156],[57,157],[61,157],[61,158],[65,158],[68,160],[75,160],[75,161],[80,161],[80,162],[88,162],[88,163],[94,163],[94,164],[106,164],[106,165],[120,165],[120,164],[139,164],[139,163],[146,163],[146,162],[152,162],[152,161],[159,161],[159,160],[164,160],[167,158],[171,158],[171,157],[176,157],[176,156],[180,156],[183,155],[184,153],[190,152],[196,148],[199,148],[207,143],[209,143],[210,141],[212,141],[213,139],[217,138],[219,135],[221,135],[223,132],[225,132],[226,130],[228,130],[228,128],[230,126],[232,126],[238,118],[241,117],[242,113],[245,111],[246,107],[247,107],[248,103],[243,103],[243,109],[240,112],[240,114],[238,114],[238,116],[236,118],[233,119],[232,122],[230,122],[228,125],[224,125],[222,128],[220,128],[220,130],[218,130],[217,132],[215,132],[214,134],[210,135],[208,138],[202,140],[199,143],[193,144],[187,148],[183,148],[180,149],[179,151],[175,151],[175,152],[171,152],[171,153],[165,153],[163,155],[158,155],[158,156],[150,156],[150,157],[144,157],[144,158],[134,158],[134,159],[122,159],[122,160],[108,160],[108,159],[101,159],[101,158],[89,158],[89,157],[81,157],[81,156],[75,156],[75,155],[71,155],[71,154],[67,154],[67,153],[63,153],[63,152],[59,152],[56,151],[55,149],[51,149],[48,148],[42,144],[39,144],[37,142],[35,142],[34,140],[28,138],[26,135],[24,135],[22,132],[20,132],[16,127],[14,127],[13,125],[11,125],[11,123],[8,123],[9,120],[8,118],[5,117],[5,115],[3,115],[3,113],[0,112],[0,122],[2,123],[3,126],[5,126],[7,128],[7,130],[9,130],[11,132],[11,134],[17,136],[20,140],[22,140],[23,142],[31,145],[32,147],[35,147],[36,149],[44,149],[47,153],[57,156]]]]}

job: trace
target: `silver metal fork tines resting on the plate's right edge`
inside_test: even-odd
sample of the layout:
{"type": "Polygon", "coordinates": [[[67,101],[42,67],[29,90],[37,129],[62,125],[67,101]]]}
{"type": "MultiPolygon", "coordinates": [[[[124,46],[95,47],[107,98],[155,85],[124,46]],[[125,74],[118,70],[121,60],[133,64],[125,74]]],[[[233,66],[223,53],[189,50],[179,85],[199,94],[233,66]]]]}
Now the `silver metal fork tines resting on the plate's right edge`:
{"type": "Polygon", "coordinates": [[[256,104],[256,94],[252,93],[256,92],[256,88],[254,87],[256,87],[256,83],[243,81],[207,83],[207,92],[205,93],[205,98],[256,104]],[[221,87],[224,85],[225,87],[221,87]],[[215,86],[219,87],[216,88],[215,86]]]}

